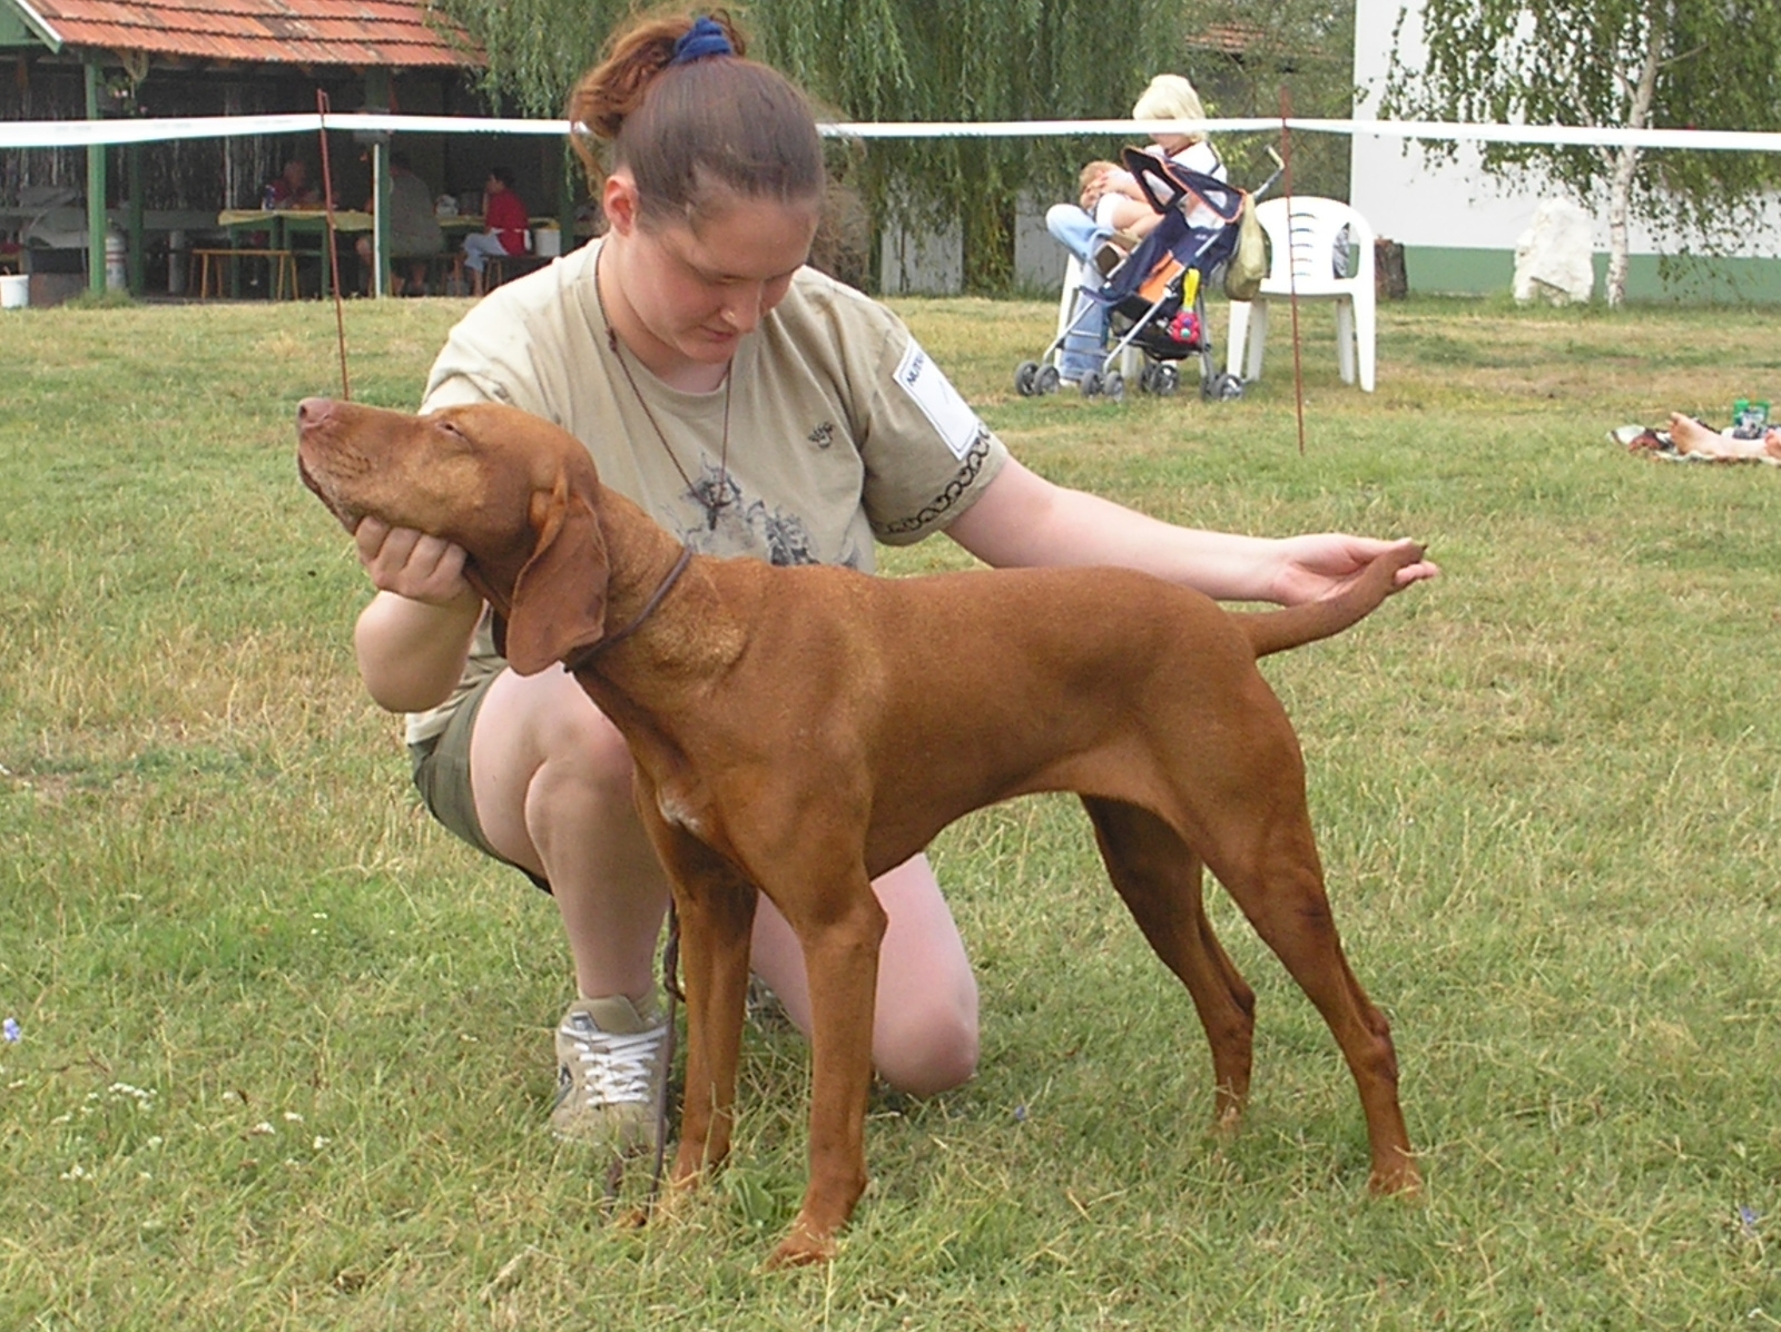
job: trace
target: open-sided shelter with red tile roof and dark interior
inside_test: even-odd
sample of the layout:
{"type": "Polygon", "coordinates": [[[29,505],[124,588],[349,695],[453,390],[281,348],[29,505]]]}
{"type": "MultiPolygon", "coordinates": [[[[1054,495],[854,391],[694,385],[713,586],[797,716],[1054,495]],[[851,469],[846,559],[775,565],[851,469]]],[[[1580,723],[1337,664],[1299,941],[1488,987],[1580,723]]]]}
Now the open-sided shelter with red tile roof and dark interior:
{"type": "MultiPolygon", "coordinates": [[[[0,80],[0,121],[255,118],[313,112],[324,102],[335,110],[488,114],[477,82],[486,59],[433,0],[0,0],[0,55],[12,64],[0,80]]],[[[431,191],[456,192],[476,189],[490,160],[513,146],[417,132],[404,151],[431,191]]],[[[559,160],[534,151],[536,169],[515,166],[538,182],[561,175],[559,160]]],[[[367,141],[338,130],[0,153],[0,242],[18,231],[12,244],[28,242],[34,274],[84,267],[98,288],[109,210],[114,224],[126,217],[130,288],[144,288],[151,262],[175,290],[182,237],[208,231],[230,208],[255,207],[264,182],[292,158],[305,160],[310,180],[329,180],[346,207],[370,192],[367,141]],[[71,228],[45,231],[43,201],[52,198],[85,215],[78,264],[64,244],[71,228]]]]}

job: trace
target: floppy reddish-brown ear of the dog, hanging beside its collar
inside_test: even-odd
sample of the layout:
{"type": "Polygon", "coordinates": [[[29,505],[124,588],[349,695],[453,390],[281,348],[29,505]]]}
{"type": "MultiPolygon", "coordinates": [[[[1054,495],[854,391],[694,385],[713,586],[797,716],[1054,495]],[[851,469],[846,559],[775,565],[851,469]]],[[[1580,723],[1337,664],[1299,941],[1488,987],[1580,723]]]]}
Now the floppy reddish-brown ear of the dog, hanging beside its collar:
{"type": "Polygon", "coordinates": [[[600,641],[606,632],[606,538],[586,495],[568,475],[533,495],[538,545],[513,584],[508,664],[536,675],[554,661],[600,641]]]}

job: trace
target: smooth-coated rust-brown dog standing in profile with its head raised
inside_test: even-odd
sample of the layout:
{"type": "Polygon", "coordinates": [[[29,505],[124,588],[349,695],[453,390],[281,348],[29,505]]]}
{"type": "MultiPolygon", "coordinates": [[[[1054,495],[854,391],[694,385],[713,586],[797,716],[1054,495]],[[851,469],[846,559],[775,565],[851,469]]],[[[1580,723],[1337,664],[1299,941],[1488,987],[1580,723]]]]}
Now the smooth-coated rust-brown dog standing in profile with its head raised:
{"type": "Polygon", "coordinates": [[[513,408],[410,417],[310,399],[297,415],[303,477],[349,531],[376,515],[461,545],[513,670],[565,662],[630,744],[680,914],[675,1182],[730,1145],[757,889],[798,933],[810,1182],[775,1261],[828,1257],[866,1188],[873,876],[962,814],[1031,791],[1088,807],[1115,889],[1199,1010],[1218,1124],[1248,1092],[1254,994],[1206,919],[1202,862],[1341,1045],[1373,1190],[1419,1186],[1391,1033],[1343,958],[1298,743],[1256,670],[1364,616],[1419,550],[1375,561],[1332,600],[1266,614],[1108,568],[773,568],[689,557],[600,486],[577,440],[513,408]]]}

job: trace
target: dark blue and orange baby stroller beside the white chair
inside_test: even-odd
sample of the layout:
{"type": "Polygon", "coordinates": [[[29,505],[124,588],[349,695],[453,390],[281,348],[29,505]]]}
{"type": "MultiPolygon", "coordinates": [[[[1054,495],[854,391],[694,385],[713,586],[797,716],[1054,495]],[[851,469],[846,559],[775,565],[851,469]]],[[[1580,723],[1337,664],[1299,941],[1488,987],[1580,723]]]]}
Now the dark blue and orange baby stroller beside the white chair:
{"type": "Polygon", "coordinates": [[[1058,392],[1065,342],[1099,328],[1106,310],[1110,345],[1097,349],[1101,363],[1076,379],[1083,397],[1118,401],[1126,395],[1126,376],[1117,367],[1127,347],[1143,353],[1138,388],[1147,394],[1172,395],[1181,385],[1179,363],[1193,356],[1199,361],[1200,397],[1241,397],[1243,379],[1216,369],[1206,319],[1206,283],[1236,249],[1243,191],[1138,148],[1126,148],[1122,158],[1161,221],[1106,274],[1104,285],[1081,285],[1067,326],[1037,361],[1022,361],[1015,369],[1015,392],[1022,397],[1058,392]],[[1188,221],[1200,203],[1216,215],[1215,226],[1188,221]]]}

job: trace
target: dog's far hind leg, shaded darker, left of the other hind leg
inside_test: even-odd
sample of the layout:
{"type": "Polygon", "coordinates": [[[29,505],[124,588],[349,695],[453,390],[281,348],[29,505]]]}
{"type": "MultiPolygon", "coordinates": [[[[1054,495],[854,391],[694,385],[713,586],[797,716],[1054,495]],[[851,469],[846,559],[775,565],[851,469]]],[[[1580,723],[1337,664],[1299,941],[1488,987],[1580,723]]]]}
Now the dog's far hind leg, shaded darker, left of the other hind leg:
{"type": "Polygon", "coordinates": [[[1213,1127],[1232,1129],[1248,1097],[1256,992],[1206,919],[1200,860],[1149,810],[1090,796],[1083,805],[1113,887],[1151,947],[1193,995],[1213,1051],[1213,1127]]]}

